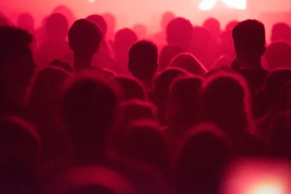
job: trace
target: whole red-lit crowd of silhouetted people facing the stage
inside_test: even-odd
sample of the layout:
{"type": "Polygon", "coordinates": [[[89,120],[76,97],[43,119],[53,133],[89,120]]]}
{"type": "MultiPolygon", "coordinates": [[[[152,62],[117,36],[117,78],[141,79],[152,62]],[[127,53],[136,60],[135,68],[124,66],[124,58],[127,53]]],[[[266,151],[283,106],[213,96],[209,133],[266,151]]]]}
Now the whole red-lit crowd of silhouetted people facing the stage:
{"type": "Polygon", "coordinates": [[[238,158],[291,160],[288,24],[115,23],[0,15],[0,193],[219,194],[238,158]]]}

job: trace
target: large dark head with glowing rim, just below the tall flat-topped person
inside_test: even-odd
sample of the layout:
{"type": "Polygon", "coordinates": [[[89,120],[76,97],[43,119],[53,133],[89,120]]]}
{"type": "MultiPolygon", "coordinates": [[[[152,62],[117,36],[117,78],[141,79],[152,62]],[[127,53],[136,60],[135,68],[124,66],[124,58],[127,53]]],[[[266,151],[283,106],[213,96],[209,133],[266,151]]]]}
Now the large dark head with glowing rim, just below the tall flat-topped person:
{"type": "Polygon", "coordinates": [[[233,136],[246,132],[250,121],[249,91],[244,79],[217,71],[207,78],[203,99],[206,119],[233,136]]]}

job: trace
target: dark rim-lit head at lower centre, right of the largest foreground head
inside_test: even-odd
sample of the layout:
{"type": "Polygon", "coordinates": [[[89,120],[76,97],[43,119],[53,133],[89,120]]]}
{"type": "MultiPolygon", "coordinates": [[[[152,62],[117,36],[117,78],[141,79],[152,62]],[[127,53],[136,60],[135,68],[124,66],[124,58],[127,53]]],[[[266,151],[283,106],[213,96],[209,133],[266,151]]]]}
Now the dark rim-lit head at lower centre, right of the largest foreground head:
{"type": "Polygon", "coordinates": [[[164,175],[169,169],[169,153],[162,130],[153,120],[134,120],[122,134],[120,145],[122,155],[146,162],[164,175]]]}

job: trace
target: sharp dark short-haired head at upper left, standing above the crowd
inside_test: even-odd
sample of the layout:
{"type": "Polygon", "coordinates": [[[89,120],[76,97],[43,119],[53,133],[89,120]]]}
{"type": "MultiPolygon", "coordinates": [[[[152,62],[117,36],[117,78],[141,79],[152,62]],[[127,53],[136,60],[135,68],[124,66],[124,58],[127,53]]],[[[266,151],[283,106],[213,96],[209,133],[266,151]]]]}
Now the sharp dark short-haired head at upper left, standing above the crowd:
{"type": "Polygon", "coordinates": [[[79,19],[71,26],[68,38],[70,47],[76,55],[90,57],[99,49],[103,36],[95,23],[79,19]]]}

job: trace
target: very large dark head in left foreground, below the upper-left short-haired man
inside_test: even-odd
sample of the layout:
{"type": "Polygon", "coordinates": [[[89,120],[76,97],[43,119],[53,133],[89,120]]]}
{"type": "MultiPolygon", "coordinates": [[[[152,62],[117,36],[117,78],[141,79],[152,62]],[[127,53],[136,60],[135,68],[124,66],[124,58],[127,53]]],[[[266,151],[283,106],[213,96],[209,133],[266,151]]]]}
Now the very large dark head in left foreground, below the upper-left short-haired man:
{"type": "Polygon", "coordinates": [[[104,153],[107,134],[117,118],[117,91],[104,81],[80,78],[65,92],[63,118],[76,154],[84,155],[81,160],[90,158],[90,150],[104,153]]]}

